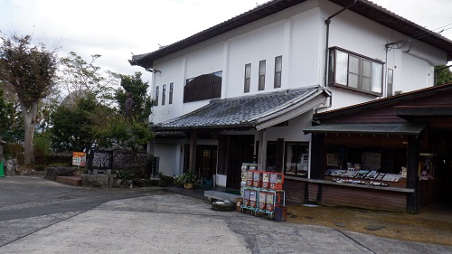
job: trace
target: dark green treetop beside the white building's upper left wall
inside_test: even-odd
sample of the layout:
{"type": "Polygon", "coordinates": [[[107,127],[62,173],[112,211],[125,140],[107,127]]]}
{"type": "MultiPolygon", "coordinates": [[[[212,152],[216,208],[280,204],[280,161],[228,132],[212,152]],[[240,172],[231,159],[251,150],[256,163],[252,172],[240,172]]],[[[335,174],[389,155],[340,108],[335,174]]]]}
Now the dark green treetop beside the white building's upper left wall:
{"type": "Polygon", "coordinates": [[[138,121],[147,123],[149,115],[152,112],[153,100],[147,94],[149,88],[148,82],[141,79],[142,73],[137,71],[134,75],[118,74],[121,80],[121,88],[117,89],[115,99],[118,103],[118,111],[121,115],[125,115],[124,101],[126,101],[127,92],[131,93],[134,100],[134,107],[132,108],[132,118],[138,121]]]}

